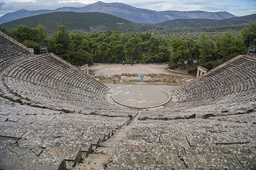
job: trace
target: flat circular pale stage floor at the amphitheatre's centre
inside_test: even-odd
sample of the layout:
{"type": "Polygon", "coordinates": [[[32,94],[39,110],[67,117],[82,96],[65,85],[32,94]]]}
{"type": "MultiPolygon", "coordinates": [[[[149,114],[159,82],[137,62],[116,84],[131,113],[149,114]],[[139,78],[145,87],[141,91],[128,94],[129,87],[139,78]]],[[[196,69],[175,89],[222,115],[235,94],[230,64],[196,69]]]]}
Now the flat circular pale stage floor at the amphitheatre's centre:
{"type": "Polygon", "coordinates": [[[153,108],[168,103],[171,95],[155,86],[125,86],[115,90],[112,98],[126,107],[153,108]]]}

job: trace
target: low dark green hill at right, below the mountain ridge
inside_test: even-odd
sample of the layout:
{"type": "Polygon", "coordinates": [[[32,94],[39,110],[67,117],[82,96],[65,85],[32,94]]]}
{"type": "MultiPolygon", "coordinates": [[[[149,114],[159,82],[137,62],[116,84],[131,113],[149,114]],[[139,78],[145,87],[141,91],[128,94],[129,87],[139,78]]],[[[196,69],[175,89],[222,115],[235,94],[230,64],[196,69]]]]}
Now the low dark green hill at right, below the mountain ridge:
{"type": "Polygon", "coordinates": [[[256,14],[240,16],[229,19],[175,19],[168,20],[167,22],[158,23],[156,25],[160,27],[169,28],[197,28],[197,27],[216,27],[223,25],[234,25],[234,24],[252,24],[256,22],[256,14]]]}

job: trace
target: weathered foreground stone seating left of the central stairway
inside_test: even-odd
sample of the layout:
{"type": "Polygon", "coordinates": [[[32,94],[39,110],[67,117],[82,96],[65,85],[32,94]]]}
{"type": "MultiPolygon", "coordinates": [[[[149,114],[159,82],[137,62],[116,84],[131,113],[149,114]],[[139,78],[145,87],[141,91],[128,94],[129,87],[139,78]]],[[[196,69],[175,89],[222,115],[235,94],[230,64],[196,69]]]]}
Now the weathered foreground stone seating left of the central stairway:
{"type": "Polygon", "coordinates": [[[65,160],[67,166],[72,167],[80,162],[81,156],[85,157],[93,147],[98,147],[130,120],[129,117],[68,114],[33,108],[2,97],[0,104],[1,110],[5,111],[0,117],[0,155],[5,155],[1,157],[0,167],[3,163],[13,163],[9,169],[15,169],[20,162],[13,161],[19,159],[29,166],[33,165],[31,160],[37,159],[44,160],[40,163],[44,165],[42,167],[57,164],[53,169],[61,167],[65,160]]]}

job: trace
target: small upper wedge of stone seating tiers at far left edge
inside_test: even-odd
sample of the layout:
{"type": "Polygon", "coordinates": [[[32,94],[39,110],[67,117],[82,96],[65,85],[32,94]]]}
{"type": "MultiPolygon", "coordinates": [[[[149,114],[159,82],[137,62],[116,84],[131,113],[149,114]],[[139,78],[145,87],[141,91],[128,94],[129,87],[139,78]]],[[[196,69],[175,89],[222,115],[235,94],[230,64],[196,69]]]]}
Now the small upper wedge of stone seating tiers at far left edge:
{"type": "Polygon", "coordinates": [[[34,53],[0,31],[0,71],[34,53]]]}

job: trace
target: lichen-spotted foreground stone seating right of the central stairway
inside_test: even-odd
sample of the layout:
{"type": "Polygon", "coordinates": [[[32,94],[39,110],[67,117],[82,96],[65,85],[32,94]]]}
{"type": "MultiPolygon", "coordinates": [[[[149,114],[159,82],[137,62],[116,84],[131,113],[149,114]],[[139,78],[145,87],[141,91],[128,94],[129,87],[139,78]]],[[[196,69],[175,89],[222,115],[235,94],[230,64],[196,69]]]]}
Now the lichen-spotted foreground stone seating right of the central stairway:
{"type": "Polygon", "coordinates": [[[250,169],[256,162],[255,115],[139,121],[108,168],[250,169]]]}

